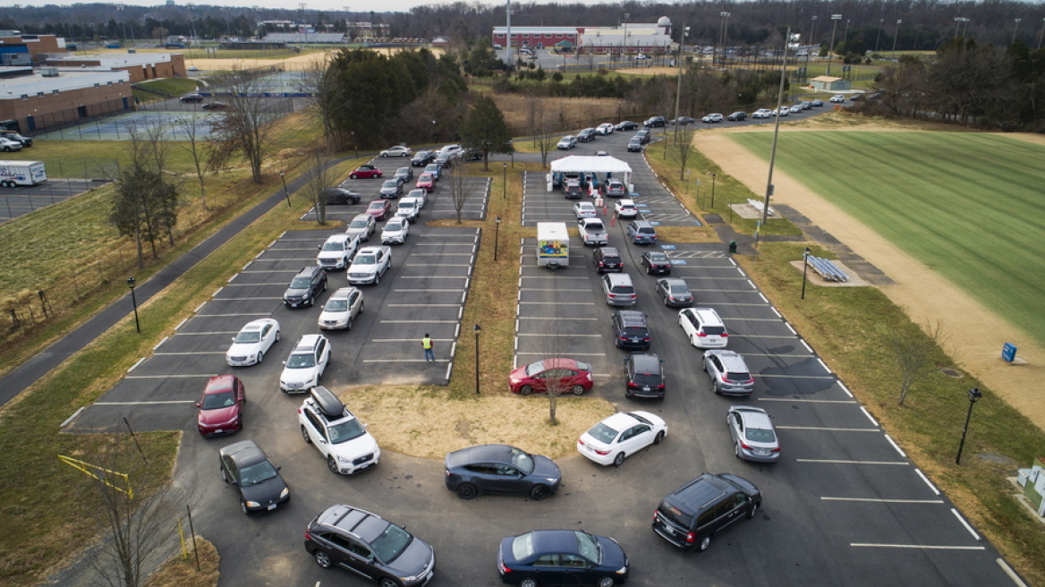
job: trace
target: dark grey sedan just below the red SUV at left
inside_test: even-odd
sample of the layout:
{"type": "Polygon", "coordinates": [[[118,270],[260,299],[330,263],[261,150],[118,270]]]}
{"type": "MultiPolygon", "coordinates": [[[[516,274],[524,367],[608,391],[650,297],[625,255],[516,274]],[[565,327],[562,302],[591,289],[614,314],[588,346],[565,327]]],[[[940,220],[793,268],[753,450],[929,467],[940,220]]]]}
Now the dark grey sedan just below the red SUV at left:
{"type": "Polygon", "coordinates": [[[218,453],[222,479],[239,494],[245,514],[275,510],[291,498],[291,489],[254,441],[230,444],[218,453]]]}

